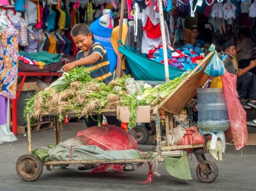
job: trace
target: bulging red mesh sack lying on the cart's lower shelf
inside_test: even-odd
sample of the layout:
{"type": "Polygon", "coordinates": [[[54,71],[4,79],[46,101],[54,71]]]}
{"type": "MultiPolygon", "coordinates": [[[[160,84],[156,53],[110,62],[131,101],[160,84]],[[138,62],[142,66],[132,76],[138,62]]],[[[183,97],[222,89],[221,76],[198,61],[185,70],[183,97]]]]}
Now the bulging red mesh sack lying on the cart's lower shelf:
{"type": "MultiPolygon", "coordinates": [[[[79,131],[76,138],[78,137],[84,145],[95,145],[103,150],[137,150],[137,141],[133,136],[115,125],[89,127],[79,131]]],[[[103,173],[107,169],[122,171],[122,167],[119,164],[99,164],[91,173],[103,173]]]]}

